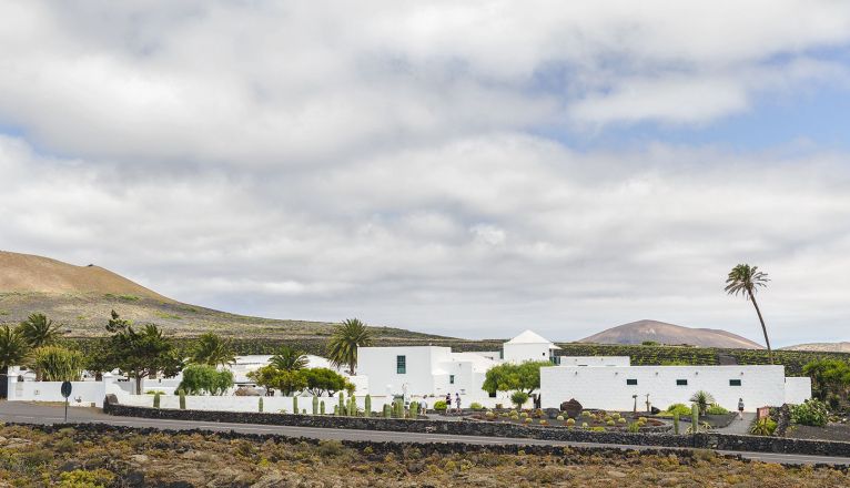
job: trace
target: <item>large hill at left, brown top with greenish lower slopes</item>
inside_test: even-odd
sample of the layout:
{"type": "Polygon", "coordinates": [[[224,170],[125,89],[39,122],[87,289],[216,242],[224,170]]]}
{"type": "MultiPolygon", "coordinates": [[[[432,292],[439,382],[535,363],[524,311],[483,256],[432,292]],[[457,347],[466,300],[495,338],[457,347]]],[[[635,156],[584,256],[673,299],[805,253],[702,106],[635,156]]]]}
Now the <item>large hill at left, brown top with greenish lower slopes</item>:
{"type": "MultiPolygon", "coordinates": [[[[170,335],[204,332],[243,338],[325,339],[334,324],[229,314],[168,298],[100,266],[0,251],[0,324],[43,313],[70,336],[105,335],[114,309],[136,324],[161,325],[170,335]]],[[[342,318],[342,317],[341,317],[342,318]]],[[[452,339],[393,327],[372,327],[376,342],[452,339]]]]}

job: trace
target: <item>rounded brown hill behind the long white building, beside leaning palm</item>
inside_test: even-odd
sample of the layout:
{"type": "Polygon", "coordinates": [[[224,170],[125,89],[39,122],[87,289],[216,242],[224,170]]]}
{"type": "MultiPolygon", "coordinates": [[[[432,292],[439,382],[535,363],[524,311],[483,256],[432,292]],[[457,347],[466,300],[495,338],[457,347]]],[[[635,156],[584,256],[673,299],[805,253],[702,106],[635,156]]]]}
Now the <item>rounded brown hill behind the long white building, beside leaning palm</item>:
{"type": "Polygon", "coordinates": [[[715,328],[690,328],[658,321],[638,321],[611,327],[580,343],[596,344],[641,344],[654,340],[659,344],[689,344],[699,347],[726,347],[762,349],[763,346],[730,332],[715,328]]]}

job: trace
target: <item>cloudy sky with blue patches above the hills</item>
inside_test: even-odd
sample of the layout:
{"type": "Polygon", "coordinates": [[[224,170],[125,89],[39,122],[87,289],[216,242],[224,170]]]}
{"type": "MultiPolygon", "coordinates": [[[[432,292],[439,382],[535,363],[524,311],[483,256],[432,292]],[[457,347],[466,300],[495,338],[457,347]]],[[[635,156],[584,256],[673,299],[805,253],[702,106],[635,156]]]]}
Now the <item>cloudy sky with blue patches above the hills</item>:
{"type": "Polygon", "coordinates": [[[850,325],[850,2],[0,2],[0,248],[275,318],[850,325]]]}

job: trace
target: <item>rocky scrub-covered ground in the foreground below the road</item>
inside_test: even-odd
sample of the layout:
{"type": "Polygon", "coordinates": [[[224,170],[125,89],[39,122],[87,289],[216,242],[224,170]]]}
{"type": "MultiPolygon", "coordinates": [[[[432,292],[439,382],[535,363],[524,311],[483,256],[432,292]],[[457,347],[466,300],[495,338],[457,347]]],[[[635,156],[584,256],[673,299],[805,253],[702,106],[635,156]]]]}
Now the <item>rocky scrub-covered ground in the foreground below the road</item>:
{"type": "Polygon", "coordinates": [[[405,445],[0,427],[0,486],[41,487],[844,487],[846,470],[710,451],[405,445]]]}

